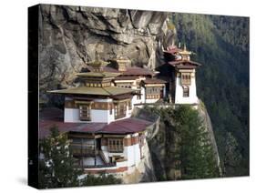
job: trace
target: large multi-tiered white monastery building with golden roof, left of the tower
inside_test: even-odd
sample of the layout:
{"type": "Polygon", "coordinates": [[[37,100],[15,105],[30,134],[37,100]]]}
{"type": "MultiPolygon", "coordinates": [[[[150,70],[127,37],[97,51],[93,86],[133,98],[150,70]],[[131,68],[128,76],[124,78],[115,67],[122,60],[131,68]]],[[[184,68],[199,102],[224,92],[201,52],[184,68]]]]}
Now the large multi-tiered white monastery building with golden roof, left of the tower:
{"type": "Polygon", "coordinates": [[[166,82],[129,60],[87,63],[78,73],[79,86],[49,91],[65,96],[64,127],[77,167],[86,173],[122,173],[138,166],[145,151],[147,127],[153,123],[131,117],[137,104],[155,103],[166,95],[166,82]],[[78,125],[69,125],[78,124],[78,125]]]}

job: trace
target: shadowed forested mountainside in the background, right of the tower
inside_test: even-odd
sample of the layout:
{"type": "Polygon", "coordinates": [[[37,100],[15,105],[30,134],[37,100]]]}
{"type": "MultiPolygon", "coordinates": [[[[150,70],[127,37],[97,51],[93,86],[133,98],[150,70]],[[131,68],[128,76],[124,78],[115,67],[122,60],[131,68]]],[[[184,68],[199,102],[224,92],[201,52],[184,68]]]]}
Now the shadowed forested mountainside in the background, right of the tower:
{"type": "Polygon", "coordinates": [[[197,70],[198,96],[210,114],[224,175],[248,175],[249,18],[172,14],[170,20],[178,41],[203,64],[197,70]],[[227,154],[225,147],[235,150],[227,154]]]}

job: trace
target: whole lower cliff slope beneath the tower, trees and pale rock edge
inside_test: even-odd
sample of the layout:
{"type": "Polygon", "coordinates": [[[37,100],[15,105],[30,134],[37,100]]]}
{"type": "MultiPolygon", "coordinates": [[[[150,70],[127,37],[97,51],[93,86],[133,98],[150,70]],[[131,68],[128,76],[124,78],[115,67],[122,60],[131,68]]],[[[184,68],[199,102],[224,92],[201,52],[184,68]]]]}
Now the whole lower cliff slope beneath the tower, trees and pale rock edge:
{"type": "Polygon", "coordinates": [[[148,147],[157,181],[220,177],[222,175],[220,157],[206,107],[204,107],[203,103],[200,103],[198,110],[193,110],[189,107],[182,108],[184,109],[181,110],[183,111],[181,118],[186,119],[187,116],[193,117],[196,115],[195,118],[188,119],[190,122],[186,123],[185,130],[179,130],[180,123],[179,117],[177,117],[179,108],[174,110],[171,107],[144,107],[138,111],[138,117],[150,118],[153,115],[160,117],[157,134],[152,138],[148,138],[148,147]],[[186,115],[186,117],[183,117],[183,115],[186,115]],[[184,141],[187,139],[182,137],[195,137],[198,135],[191,133],[200,129],[197,128],[196,122],[199,123],[199,127],[203,128],[203,131],[198,133],[200,134],[199,140],[204,141],[203,143],[205,144],[209,144],[207,149],[200,141],[194,141],[197,139],[193,138],[189,139],[189,147],[187,147],[188,143],[184,141]],[[192,147],[190,143],[191,145],[193,144],[192,146],[195,145],[195,148],[190,148],[192,147]],[[183,150],[180,150],[180,148],[183,148],[183,150]],[[182,157],[184,150],[189,150],[190,154],[187,157],[186,153],[185,159],[182,157]],[[197,155],[196,159],[193,160],[193,156],[191,155],[197,155]],[[210,159],[204,160],[203,157],[209,157],[210,159]],[[194,165],[196,169],[186,172],[183,168],[188,164],[189,168],[193,168],[192,166],[194,165]]]}

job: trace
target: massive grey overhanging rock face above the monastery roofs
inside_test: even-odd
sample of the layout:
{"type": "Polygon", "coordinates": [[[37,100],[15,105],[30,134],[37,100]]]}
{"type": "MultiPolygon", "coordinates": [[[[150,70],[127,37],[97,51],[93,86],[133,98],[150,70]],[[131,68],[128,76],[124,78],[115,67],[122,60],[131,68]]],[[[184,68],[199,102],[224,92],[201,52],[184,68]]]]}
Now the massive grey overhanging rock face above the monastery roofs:
{"type": "Polygon", "coordinates": [[[168,13],[66,5],[40,5],[41,94],[74,86],[74,74],[94,60],[128,56],[132,66],[154,69],[171,41],[168,13]]]}

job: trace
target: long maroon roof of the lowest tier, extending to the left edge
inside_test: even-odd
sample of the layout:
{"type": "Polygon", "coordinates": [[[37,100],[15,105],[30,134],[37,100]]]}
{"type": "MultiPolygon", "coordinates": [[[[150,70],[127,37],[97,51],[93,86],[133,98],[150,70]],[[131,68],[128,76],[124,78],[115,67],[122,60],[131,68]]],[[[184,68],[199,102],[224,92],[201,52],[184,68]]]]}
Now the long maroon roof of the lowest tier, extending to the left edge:
{"type": "Polygon", "coordinates": [[[63,111],[58,108],[46,108],[39,113],[39,137],[47,137],[50,128],[56,126],[60,133],[80,132],[95,134],[129,134],[143,131],[152,124],[136,117],[125,118],[107,123],[64,123],[63,111]]]}

